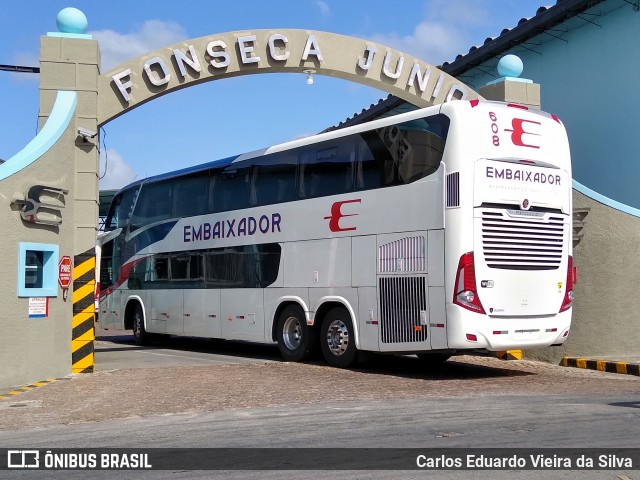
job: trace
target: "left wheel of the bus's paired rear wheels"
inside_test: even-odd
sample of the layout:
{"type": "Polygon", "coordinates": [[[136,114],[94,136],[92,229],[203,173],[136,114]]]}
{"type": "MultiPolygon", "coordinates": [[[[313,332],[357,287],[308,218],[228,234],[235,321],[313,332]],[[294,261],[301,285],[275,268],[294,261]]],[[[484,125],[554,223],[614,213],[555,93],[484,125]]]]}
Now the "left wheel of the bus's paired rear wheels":
{"type": "Polygon", "coordinates": [[[318,344],[315,330],[307,325],[298,305],[289,305],[280,313],[276,333],[280,353],[290,362],[307,359],[318,344]]]}

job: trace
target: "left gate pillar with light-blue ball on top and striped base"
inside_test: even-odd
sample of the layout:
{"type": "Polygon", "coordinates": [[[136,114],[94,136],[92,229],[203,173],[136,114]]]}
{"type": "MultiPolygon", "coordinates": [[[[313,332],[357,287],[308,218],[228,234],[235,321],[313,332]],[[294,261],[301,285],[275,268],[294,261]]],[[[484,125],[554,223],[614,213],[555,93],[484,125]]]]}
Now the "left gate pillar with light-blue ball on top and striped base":
{"type": "Polygon", "coordinates": [[[72,203],[73,234],[64,238],[73,251],[73,285],[70,292],[72,308],[71,358],[72,371],[92,372],[95,340],[95,244],[98,219],[98,77],[100,50],[90,35],[84,34],[86,17],[75,9],[63,12],[60,33],[49,33],[40,42],[40,114],[43,125],[59,90],[77,93],[71,142],[60,145],[61,154],[69,161],[71,187],[68,201],[72,203]],[[70,18],[70,21],[69,21],[70,18]],[[83,20],[84,19],[84,20],[83,20]],[[67,24],[65,24],[65,20],[67,24]],[[78,23],[84,25],[78,25],[78,23]],[[83,28],[84,26],[84,28],[83,28]]]}

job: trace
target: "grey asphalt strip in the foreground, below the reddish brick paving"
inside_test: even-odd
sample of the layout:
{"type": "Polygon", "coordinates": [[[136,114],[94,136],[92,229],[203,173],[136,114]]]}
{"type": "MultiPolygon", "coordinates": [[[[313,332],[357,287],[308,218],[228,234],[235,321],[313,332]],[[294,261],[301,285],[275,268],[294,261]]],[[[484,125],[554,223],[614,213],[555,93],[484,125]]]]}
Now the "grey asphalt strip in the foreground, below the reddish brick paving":
{"type": "MultiPolygon", "coordinates": [[[[349,402],[206,414],[124,419],[34,432],[0,432],[3,445],[32,448],[562,448],[637,446],[637,396],[490,396],[399,402],[349,402]]],[[[407,469],[413,467],[408,459],[407,469]]],[[[250,465],[251,458],[246,459],[250,465]]],[[[331,465],[332,459],[326,458],[331,465]]],[[[38,478],[38,472],[3,472],[38,478]]],[[[40,472],[42,473],[42,472],[40,472]]],[[[86,478],[88,472],[46,472],[46,478],[86,478]]],[[[432,472],[433,474],[433,472],[432,472]]],[[[640,471],[448,471],[437,478],[640,478],[640,471]],[[577,475],[577,476],[576,476],[577,475]]],[[[121,475],[121,474],[120,474],[121,475]]],[[[136,472],[126,478],[147,478],[136,472]]],[[[428,472],[156,471],[148,478],[424,478],[428,472]]],[[[44,478],[44,477],[41,477],[44,478]]],[[[91,472],[91,478],[125,478],[91,472]]]]}

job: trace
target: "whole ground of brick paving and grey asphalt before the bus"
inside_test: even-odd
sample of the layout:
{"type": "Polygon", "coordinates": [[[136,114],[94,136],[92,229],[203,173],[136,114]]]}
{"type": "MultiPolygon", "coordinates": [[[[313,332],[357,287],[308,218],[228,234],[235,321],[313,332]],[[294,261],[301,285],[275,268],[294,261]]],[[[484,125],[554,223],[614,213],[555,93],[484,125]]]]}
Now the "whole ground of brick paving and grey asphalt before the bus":
{"type": "MultiPolygon", "coordinates": [[[[160,375],[150,377],[155,383],[150,383],[148,390],[139,392],[132,400],[147,403],[152,415],[121,412],[113,418],[98,416],[96,421],[82,423],[61,420],[61,424],[37,429],[12,427],[0,431],[0,445],[41,449],[180,448],[179,455],[197,448],[336,448],[338,450],[318,450],[318,455],[326,457],[319,461],[330,468],[334,457],[348,448],[427,451],[446,448],[458,449],[451,450],[458,453],[471,448],[549,448],[550,452],[562,455],[563,448],[579,448],[585,453],[599,448],[637,448],[640,438],[640,379],[628,376],[535,362],[508,362],[507,368],[495,359],[483,362],[463,359],[434,374],[420,373],[417,361],[408,358],[384,363],[374,361],[362,369],[345,372],[321,364],[283,363],[273,347],[180,340],[141,349],[128,337],[111,340],[101,338],[97,345],[97,369],[106,374],[104,377],[96,374],[71,382],[57,382],[39,389],[40,392],[24,394],[24,401],[40,402],[39,407],[34,405],[30,410],[44,419],[56,413],[55,409],[46,410],[47,403],[53,402],[56,396],[67,395],[69,401],[90,403],[89,410],[98,412],[105,410],[107,403],[121,401],[126,405],[128,401],[127,398],[106,398],[99,389],[102,381],[118,387],[119,382],[127,378],[132,384],[142,383],[144,375],[158,372],[160,375]],[[152,366],[154,368],[150,368],[152,366]],[[135,370],[131,370],[132,367],[135,370]],[[114,374],[108,372],[113,369],[123,369],[120,370],[122,376],[114,379],[114,374]],[[196,408],[192,402],[202,400],[193,392],[185,395],[182,402],[175,398],[175,392],[168,395],[170,399],[162,397],[161,390],[167,390],[172,382],[182,382],[185,393],[187,389],[193,390],[187,374],[194,370],[196,378],[202,378],[203,372],[208,375],[210,388],[196,393],[213,396],[210,403],[196,408]],[[134,374],[128,376],[127,372],[134,374]],[[147,373],[141,375],[143,372],[147,373]],[[159,379],[164,372],[174,376],[161,384],[159,379]],[[225,373],[230,375],[228,379],[213,382],[225,373]],[[234,379],[251,382],[249,388],[232,390],[234,379]],[[275,385],[281,388],[272,388],[274,382],[281,382],[275,385]],[[300,396],[301,392],[296,391],[307,392],[309,385],[321,385],[322,390],[314,393],[316,399],[300,396]],[[220,389],[231,390],[230,396],[237,404],[223,403],[226,397],[220,389]],[[96,395],[91,396],[86,390],[96,395]],[[251,396],[255,398],[248,398],[251,396]],[[271,400],[265,402],[263,397],[271,400]],[[169,408],[169,400],[179,408],[175,405],[169,408]],[[43,411],[38,413],[39,409],[43,411]]],[[[118,395],[123,391],[126,389],[118,390],[118,395]]],[[[54,405],[64,409],[64,402],[54,405]]],[[[87,409],[87,405],[82,407],[87,409]]],[[[6,413],[9,410],[5,409],[5,414],[26,411],[6,413]]],[[[0,410],[0,426],[2,415],[0,410]]],[[[240,450],[241,454],[244,451],[240,450]]],[[[176,452],[162,455],[172,454],[176,452]]],[[[250,466],[253,460],[247,453],[243,462],[250,466]]],[[[286,453],[280,452],[276,461],[287,463],[286,453]]],[[[410,457],[407,461],[407,471],[195,471],[181,467],[152,472],[4,471],[0,476],[3,479],[84,479],[88,476],[95,479],[640,479],[637,467],[607,471],[429,472],[411,470],[414,460],[410,457]]],[[[363,460],[365,467],[366,460],[363,460]]]]}

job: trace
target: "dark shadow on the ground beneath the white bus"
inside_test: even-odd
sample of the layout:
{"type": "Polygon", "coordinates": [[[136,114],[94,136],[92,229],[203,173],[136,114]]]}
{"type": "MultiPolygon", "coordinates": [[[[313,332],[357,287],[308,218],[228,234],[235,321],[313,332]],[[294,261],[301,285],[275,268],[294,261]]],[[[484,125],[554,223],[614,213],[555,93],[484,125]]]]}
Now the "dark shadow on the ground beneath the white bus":
{"type": "MultiPolygon", "coordinates": [[[[108,341],[115,345],[100,348],[101,352],[116,352],[126,350],[158,350],[171,349],[185,352],[211,353],[229,357],[243,357],[273,362],[285,362],[276,345],[263,345],[251,342],[205,339],[195,337],[166,337],[151,345],[137,346],[133,341],[133,335],[102,336],[97,335],[96,340],[108,341]]],[[[326,366],[322,355],[316,353],[306,362],[307,365],[326,366]]],[[[369,352],[361,352],[359,362],[351,368],[351,371],[367,375],[389,375],[403,378],[416,378],[426,380],[457,380],[457,379],[482,379],[524,377],[535,375],[532,372],[513,368],[500,368],[499,366],[478,365],[469,361],[472,358],[468,353],[464,357],[451,357],[446,362],[425,362],[415,355],[385,355],[369,352]]],[[[500,360],[495,359],[495,362],[500,360]]],[[[512,366],[512,365],[511,365],[512,366]]]]}

